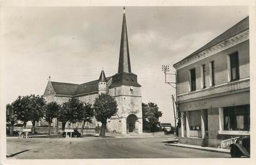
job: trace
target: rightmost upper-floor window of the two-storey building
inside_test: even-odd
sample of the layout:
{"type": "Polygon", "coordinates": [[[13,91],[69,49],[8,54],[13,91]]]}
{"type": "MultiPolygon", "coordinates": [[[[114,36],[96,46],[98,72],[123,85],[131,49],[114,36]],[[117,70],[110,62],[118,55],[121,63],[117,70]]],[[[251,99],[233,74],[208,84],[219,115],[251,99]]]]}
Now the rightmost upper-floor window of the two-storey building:
{"type": "Polygon", "coordinates": [[[239,61],[238,52],[230,54],[230,73],[231,81],[239,80],[239,61]]]}

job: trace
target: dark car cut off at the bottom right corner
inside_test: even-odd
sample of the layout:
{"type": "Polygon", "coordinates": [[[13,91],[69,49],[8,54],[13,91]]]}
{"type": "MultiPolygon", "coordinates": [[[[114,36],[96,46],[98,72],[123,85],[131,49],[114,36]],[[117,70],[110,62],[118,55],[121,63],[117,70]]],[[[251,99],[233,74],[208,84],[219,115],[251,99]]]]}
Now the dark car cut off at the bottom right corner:
{"type": "Polygon", "coordinates": [[[241,141],[237,141],[235,144],[230,144],[230,155],[232,158],[250,158],[250,137],[245,136],[241,141]],[[242,142],[242,144],[240,144],[240,142],[242,142]]]}

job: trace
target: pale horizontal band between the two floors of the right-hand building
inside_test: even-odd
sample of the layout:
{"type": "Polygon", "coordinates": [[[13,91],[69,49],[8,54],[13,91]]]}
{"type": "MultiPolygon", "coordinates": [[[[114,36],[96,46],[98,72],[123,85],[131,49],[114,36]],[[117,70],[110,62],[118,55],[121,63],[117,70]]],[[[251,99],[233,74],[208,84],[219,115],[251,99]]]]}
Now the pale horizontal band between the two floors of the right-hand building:
{"type": "Polygon", "coordinates": [[[207,97],[210,95],[230,92],[233,90],[241,90],[245,88],[250,88],[250,78],[238,80],[235,82],[228,82],[222,85],[216,85],[214,87],[209,87],[189,93],[183,93],[177,96],[177,101],[185,101],[199,97],[207,97]]]}

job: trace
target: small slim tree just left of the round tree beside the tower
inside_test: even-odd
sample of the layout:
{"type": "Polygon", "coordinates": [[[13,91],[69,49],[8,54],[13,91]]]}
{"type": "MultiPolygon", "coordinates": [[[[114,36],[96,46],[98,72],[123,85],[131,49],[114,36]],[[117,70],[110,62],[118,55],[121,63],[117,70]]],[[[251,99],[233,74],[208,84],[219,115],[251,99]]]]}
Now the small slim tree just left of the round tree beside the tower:
{"type": "Polygon", "coordinates": [[[81,134],[83,136],[83,129],[84,129],[84,125],[86,122],[91,123],[91,119],[93,118],[94,115],[94,110],[91,107],[90,103],[84,103],[83,109],[81,109],[80,111],[80,121],[82,121],[82,126],[81,126],[81,134]]]}

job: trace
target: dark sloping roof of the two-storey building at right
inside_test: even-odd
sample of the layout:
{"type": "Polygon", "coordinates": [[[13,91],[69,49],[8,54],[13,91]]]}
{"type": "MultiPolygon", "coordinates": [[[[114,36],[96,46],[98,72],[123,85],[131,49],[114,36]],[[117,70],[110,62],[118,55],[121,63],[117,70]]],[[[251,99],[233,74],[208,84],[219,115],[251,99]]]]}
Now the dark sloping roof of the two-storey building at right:
{"type": "MultiPolygon", "coordinates": [[[[243,31],[245,31],[247,29],[249,29],[249,17],[248,16],[245,17],[244,19],[242,19],[242,21],[238,22],[234,26],[230,27],[230,29],[228,29],[227,31],[225,31],[222,34],[218,35],[218,37],[216,37],[215,39],[211,40],[210,42],[208,42],[206,45],[204,45],[200,49],[198,49],[195,52],[193,52],[192,54],[188,55],[183,60],[190,59],[190,57],[192,57],[193,55],[196,55],[196,54],[202,52],[203,50],[209,49],[210,47],[218,44],[219,42],[222,42],[223,40],[226,40],[226,39],[232,37],[233,35],[239,34],[240,32],[243,32],[243,31]]],[[[183,60],[180,60],[176,64],[182,62],[183,60]]],[[[176,65],[176,64],[174,64],[174,65],[176,65]]]]}

